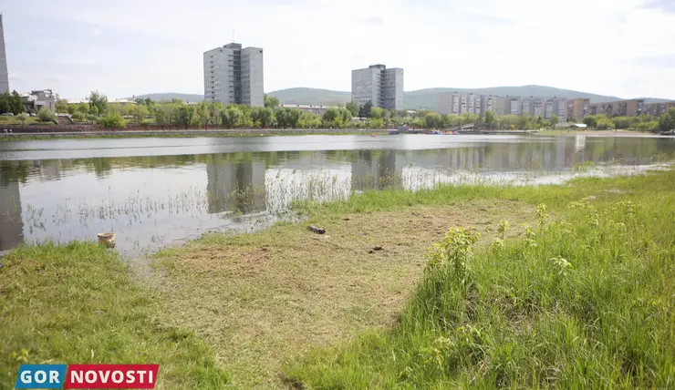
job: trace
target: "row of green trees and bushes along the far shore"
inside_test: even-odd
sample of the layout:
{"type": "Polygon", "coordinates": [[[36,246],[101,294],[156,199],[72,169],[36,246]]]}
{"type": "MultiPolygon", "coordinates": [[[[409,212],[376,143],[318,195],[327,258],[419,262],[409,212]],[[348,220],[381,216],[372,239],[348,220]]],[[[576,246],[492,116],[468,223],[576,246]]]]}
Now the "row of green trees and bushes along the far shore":
{"type": "MultiPolygon", "coordinates": [[[[57,112],[68,112],[75,120],[99,123],[106,128],[126,128],[129,122],[141,126],[156,124],[161,128],[396,128],[407,125],[411,128],[455,128],[468,124],[481,124],[496,129],[555,128],[559,118],[545,119],[528,115],[497,116],[486,111],[478,114],[442,115],[433,110],[420,109],[387,110],[373,107],[371,102],[359,105],[348,102],[345,107],[327,108],[322,116],[298,108],[280,108],[276,97],[265,95],[264,107],[224,105],[219,102],[202,101],[187,104],[181,99],[153,101],[138,98],[136,104],[109,103],[108,98],[93,91],[87,103],[68,104],[57,101],[57,112]]],[[[669,110],[661,118],[641,115],[639,117],[607,118],[603,115],[588,116],[584,122],[590,128],[627,128],[657,131],[668,128],[675,120],[675,111],[669,110]],[[672,119],[671,119],[672,118],[672,119]]]]}

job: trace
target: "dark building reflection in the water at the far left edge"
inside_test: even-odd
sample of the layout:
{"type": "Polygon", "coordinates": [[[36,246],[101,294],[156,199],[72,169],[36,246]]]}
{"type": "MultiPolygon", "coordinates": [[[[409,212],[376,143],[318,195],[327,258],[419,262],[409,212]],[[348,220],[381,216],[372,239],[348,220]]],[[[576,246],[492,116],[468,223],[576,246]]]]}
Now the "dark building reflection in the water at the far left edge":
{"type": "Polygon", "coordinates": [[[0,251],[24,243],[21,194],[16,181],[0,182],[0,251]]]}

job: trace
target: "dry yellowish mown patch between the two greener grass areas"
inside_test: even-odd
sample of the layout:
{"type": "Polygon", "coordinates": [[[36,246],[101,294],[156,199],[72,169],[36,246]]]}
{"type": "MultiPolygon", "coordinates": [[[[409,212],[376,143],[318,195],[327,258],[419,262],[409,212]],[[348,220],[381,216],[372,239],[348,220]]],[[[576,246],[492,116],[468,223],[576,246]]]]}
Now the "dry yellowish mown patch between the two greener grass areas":
{"type": "Polygon", "coordinates": [[[343,215],[238,236],[211,235],[158,255],[167,321],[211,344],[245,388],[282,387],[285,359],[348,340],[396,318],[423,270],[423,253],[449,227],[473,226],[492,241],[499,221],[534,220],[531,206],[474,201],[343,215]],[[379,249],[375,249],[379,248],[379,249]]]}

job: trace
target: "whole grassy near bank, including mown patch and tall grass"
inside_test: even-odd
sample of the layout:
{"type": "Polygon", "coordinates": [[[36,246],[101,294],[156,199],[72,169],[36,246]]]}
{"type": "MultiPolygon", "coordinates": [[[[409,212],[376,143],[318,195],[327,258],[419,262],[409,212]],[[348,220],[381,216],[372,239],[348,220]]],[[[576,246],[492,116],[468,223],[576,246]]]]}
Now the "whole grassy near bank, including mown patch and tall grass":
{"type": "Polygon", "coordinates": [[[138,356],[162,364],[163,388],[675,380],[675,172],[384,190],[296,210],[305,223],[210,234],[151,267],[90,244],[5,256],[0,383],[11,386],[21,362],[138,356]],[[501,221],[510,227],[493,245],[501,221]],[[452,226],[482,233],[460,290],[446,266],[424,272],[425,249],[452,226]],[[205,360],[189,364],[194,354],[205,360]]]}

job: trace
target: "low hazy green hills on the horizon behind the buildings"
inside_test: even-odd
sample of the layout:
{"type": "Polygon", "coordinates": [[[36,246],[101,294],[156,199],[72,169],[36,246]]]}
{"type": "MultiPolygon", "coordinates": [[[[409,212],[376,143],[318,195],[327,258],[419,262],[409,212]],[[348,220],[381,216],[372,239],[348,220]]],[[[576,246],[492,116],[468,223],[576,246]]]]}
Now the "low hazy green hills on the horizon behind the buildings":
{"type": "MultiPolygon", "coordinates": [[[[438,96],[441,93],[459,92],[474,93],[477,95],[495,95],[500,97],[586,97],[590,98],[591,103],[603,103],[608,101],[621,100],[621,97],[610,97],[596,95],[587,92],[574,91],[571,89],[561,89],[545,86],[523,86],[523,87],[488,87],[488,88],[428,88],[416,91],[405,92],[403,97],[404,108],[417,109],[428,108],[437,109],[438,96]]],[[[345,105],[351,100],[351,93],[347,91],[334,91],[330,89],[317,88],[288,88],[280,89],[268,93],[271,97],[276,97],[279,102],[284,104],[313,104],[321,106],[345,105]]],[[[202,101],[203,95],[197,94],[179,94],[179,93],[160,93],[139,95],[134,98],[150,97],[152,100],[171,100],[180,98],[186,102],[202,101]]],[[[645,103],[659,103],[670,101],[663,98],[639,97],[645,100],[645,103]]]]}

